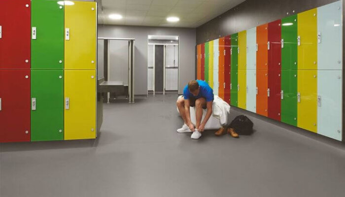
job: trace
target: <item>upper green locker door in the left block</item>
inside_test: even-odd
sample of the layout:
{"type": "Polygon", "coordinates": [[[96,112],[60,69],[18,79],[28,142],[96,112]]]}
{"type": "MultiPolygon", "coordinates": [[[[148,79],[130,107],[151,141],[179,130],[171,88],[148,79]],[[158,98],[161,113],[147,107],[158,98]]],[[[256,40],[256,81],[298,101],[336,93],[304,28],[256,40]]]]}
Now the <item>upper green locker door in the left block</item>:
{"type": "Polygon", "coordinates": [[[33,69],[64,68],[64,6],[56,0],[32,0],[33,69]]]}

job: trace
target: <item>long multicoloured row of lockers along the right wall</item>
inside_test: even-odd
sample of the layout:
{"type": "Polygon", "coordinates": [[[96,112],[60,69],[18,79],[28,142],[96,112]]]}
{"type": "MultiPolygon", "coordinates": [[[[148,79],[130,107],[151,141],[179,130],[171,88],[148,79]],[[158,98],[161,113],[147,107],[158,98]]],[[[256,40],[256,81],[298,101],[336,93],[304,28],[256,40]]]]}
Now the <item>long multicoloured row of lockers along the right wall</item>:
{"type": "Polygon", "coordinates": [[[338,1],[200,44],[197,78],[233,106],[342,140],[342,26],[338,1]]]}

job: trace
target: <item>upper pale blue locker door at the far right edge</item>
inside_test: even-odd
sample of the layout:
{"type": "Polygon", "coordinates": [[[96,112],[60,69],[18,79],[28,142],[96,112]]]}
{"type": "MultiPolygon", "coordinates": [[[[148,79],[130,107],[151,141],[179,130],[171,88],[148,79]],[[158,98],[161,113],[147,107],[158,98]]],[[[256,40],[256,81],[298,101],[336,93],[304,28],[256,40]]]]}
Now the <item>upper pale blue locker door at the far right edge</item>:
{"type": "Polygon", "coordinates": [[[343,67],[342,1],[317,8],[317,61],[318,69],[332,70],[343,67]]]}

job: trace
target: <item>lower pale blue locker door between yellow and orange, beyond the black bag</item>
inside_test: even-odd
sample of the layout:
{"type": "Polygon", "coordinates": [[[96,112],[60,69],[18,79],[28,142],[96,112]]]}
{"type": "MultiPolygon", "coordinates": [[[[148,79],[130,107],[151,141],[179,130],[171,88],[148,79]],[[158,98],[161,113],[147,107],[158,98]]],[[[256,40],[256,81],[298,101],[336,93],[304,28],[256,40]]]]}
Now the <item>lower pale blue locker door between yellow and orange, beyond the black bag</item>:
{"type": "MultiPolygon", "coordinates": [[[[248,33],[248,32],[247,32],[248,33]]],[[[256,70],[247,69],[247,106],[248,111],[256,113],[256,70]]]]}

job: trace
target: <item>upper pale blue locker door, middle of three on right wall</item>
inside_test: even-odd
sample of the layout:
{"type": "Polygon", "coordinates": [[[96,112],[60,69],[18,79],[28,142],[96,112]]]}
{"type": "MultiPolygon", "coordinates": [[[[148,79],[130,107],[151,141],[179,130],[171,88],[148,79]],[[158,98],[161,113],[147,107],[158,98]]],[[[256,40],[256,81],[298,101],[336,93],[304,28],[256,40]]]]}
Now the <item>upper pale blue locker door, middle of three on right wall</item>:
{"type": "Polygon", "coordinates": [[[247,30],[247,69],[256,69],[256,28],[247,30]]]}

